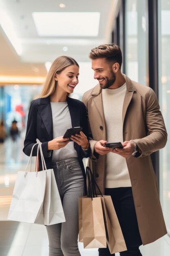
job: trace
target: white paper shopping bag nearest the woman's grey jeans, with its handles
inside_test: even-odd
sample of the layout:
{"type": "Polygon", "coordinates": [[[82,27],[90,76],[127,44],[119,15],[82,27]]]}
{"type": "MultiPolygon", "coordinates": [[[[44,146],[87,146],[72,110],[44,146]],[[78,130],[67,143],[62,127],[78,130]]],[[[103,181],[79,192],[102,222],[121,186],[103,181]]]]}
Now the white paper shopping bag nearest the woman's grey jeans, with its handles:
{"type": "Polygon", "coordinates": [[[57,183],[55,181],[54,171],[53,169],[46,169],[46,164],[42,153],[42,143],[40,143],[40,156],[42,159],[43,168],[43,171],[40,172],[46,172],[46,189],[43,203],[44,225],[53,225],[65,222],[66,220],[57,183]]]}

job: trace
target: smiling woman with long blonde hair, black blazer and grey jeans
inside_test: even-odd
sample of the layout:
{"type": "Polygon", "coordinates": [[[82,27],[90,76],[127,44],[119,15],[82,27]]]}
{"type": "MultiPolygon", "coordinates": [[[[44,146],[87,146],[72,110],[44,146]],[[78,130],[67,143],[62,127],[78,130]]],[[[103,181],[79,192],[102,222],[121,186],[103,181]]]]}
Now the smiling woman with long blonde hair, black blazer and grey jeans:
{"type": "MultiPolygon", "coordinates": [[[[41,97],[29,109],[24,153],[30,155],[36,139],[42,142],[46,167],[53,168],[66,222],[46,226],[49,255],[80,256],[78,238],[78,197],[84,194],[85,171],[82,159],[88,157],[88,124],[84,103],[68,97],[78,83],[79,65],[60,56],[52,64],[41,97]],[[63,138],[67,128],[82,127],[82,132],[63,138]]],[[[36,155],[37,146],[33,150],[36,155]]],[[[39,161],[39,169],[42,170],[39,161]]]]}

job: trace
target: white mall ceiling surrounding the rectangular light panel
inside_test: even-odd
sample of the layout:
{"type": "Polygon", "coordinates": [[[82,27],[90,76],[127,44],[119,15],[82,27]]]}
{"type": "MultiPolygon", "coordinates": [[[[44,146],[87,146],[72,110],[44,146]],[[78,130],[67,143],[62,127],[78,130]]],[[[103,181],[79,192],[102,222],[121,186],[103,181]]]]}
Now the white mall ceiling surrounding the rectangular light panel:
{"type": "MultiPolygon", "coordinates": [[[[46,61],[67,55],[76,61],[89,61],[93,47],[110,43],[114,14],[119,0],[0,0],[0,11],[5,11],[22,45],[18,56],[0,26],[0,76],[46,76],[46,61]],[[64,3],[65,8],[59,4],[64,3]],[[100,12],[98,36],[38,36],[33,12],[100,12]],[[63,47],[68,47],[64,52],[63,47]]],[[[71,21],[70,21],[71,22],[71,21]]],[[[77,24],[78,24],[77,20],[77,24]]],[[[56,24],[62,26],[62,24],[56,24]]]]}

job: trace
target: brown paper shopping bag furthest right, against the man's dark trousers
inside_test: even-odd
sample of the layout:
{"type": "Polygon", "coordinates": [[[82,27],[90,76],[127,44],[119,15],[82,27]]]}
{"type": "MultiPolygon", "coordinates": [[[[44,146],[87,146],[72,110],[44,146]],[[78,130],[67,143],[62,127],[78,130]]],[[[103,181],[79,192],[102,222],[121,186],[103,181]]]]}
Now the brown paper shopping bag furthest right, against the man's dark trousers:
{"type": "Polygon", "coordinates": [[[126,251],[126,243],[110,195],[101,197],[106,228],[107,245],[110,254],[126,251]]]}

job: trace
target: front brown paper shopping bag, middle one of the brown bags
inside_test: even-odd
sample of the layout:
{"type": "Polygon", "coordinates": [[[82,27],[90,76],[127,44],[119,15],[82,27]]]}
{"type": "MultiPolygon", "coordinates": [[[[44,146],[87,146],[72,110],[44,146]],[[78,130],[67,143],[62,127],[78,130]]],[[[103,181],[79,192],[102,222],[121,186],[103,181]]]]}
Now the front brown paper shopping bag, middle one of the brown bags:
{"type": "Polygon", "coordinates": [[[106,231],[100,197],[82,197],[82,238],[84,248],[106,248],[106,231]]]}

